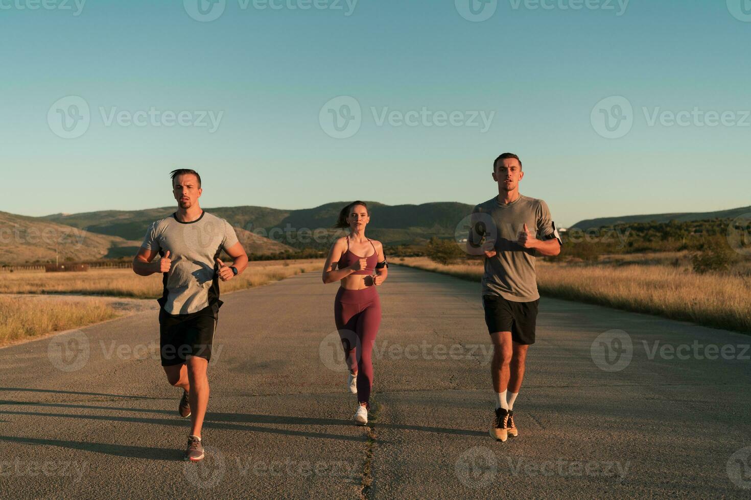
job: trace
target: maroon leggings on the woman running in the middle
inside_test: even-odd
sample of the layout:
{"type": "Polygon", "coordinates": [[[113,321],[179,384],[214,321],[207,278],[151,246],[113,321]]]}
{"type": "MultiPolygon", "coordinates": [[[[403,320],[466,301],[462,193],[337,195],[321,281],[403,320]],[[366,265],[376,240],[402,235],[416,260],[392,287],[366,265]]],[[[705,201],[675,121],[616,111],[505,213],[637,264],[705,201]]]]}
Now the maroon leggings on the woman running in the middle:
{"type": "Polygon", "coordinates": [[[357,371],[357,401],[369,403],[373,385],[372,350],[381,325],[381,301],[375,286],[361,290],[339,287],[333,316],[347,366],[352,372],[357,371]]]}

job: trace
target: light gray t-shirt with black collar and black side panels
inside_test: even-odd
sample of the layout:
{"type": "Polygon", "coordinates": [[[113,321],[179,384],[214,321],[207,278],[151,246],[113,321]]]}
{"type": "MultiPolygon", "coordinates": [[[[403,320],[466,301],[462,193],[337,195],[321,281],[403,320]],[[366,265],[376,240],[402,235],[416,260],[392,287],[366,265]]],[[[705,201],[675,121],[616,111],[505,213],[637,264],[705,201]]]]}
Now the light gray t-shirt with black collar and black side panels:
{"type": "Polygon", "coordinates": [[[172,267],[164,273],[164,293],[159,304],[167,314],[197,313],[219,300],[219,265],[223,250],[237,244],[234,228],[224,219],[204,211],[197,220],[180,222],[175,214],[149,226],[141,247],[170,251],[172,267]]]}

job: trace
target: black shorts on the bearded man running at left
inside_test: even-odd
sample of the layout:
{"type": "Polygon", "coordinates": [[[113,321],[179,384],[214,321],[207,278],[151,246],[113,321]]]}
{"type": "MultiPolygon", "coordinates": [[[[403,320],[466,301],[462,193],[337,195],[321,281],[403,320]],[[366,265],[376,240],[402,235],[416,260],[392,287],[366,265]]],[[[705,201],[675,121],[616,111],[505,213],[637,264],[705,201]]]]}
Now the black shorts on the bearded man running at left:
{"type": "Polygon", "coordinates": [[[161,366],[183,364],[190,356],[211,360],[219,308],[207,306],[197,313],[169,314],[159,310],[161,366]]]}

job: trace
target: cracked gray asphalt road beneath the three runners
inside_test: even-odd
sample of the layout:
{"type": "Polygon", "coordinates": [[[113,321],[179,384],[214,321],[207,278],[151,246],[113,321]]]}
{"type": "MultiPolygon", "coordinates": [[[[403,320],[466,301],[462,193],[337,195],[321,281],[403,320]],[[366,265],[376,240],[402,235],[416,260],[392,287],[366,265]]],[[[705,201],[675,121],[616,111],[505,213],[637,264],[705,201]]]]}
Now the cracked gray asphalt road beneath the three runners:
{"type": "Polygon", "coordinates": [[[520,435],[494,442],[478,284],[389,271],[367,427],[336,285],[301,274],[223,297],[200,464],[181,460],[155,302],[0,349],[0,496],[751,496],[751,337],[543,298],[520,435]]]}

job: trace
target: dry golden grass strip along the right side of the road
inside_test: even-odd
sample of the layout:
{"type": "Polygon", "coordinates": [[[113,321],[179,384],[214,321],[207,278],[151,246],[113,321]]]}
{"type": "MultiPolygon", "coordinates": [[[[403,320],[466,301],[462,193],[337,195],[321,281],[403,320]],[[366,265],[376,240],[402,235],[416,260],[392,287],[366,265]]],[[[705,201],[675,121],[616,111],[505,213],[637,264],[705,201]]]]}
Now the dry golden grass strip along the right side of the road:
{"type": "MultiPolygon", "coordinates": [[[[482,262],[439,265],[426,257],[397,264],[479,281],[482,262]]],[[[696,274],[685,266],[583,265],[538,260],[540,293],[550,297],[650,313],[751,333],[751,280],[734,274],[696,274]]],[[[479,293],[479,289],[478,289],[479,293]]]]}

